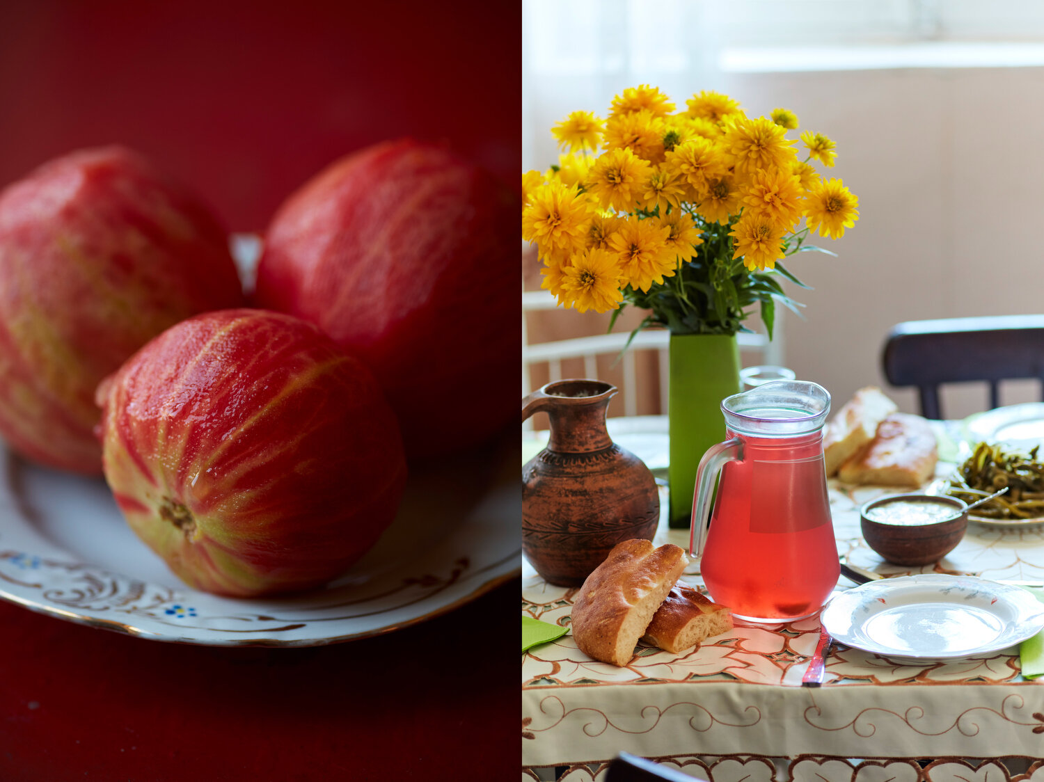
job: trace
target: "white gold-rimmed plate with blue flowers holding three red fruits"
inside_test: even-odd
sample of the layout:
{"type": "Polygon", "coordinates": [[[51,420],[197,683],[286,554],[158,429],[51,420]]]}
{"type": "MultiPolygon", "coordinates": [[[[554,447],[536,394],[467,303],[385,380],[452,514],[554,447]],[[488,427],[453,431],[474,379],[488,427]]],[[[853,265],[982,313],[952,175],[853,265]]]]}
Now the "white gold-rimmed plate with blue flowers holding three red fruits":
{"type": "Polygon", "coordinates": [[[130,531],[102,479],[0,448],[0,598],[176,643],[311,646],[387,633],[521,572],[516,451],[411,474],[395,522],[342,577],[246,600],[188,589],[130,531]]]}

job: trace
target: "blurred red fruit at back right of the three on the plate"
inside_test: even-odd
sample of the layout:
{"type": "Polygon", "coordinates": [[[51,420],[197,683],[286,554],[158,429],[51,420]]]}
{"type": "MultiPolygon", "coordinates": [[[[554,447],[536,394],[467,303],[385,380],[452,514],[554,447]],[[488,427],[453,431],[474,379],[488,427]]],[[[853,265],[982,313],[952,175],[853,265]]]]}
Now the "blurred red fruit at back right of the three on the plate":
{"type": "Polygon", "coordinates": [[[474,445],[516,417],[519,209],[441,146],[369,147],[279,209],[256,301],[317,324],[374,371],[408,457],[474,445]]]}

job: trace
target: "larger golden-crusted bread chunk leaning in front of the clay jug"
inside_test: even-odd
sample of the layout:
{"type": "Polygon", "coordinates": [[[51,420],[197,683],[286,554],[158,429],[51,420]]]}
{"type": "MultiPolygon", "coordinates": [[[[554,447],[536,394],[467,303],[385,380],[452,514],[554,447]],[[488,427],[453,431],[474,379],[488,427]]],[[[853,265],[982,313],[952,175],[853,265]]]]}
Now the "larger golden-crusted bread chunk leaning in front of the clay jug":
{"type": "Polygon", "coordinates": [[[689,558],[670,543],[618,543],[584,582],[572,612],[576,645],[595,660],[624,666],[689,558]]]}

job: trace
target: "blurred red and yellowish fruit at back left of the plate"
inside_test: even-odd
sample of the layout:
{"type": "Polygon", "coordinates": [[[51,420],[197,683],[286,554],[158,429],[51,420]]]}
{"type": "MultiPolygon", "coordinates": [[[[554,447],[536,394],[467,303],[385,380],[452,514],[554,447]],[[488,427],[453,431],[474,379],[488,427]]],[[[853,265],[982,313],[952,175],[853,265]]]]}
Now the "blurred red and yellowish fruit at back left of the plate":
{"type": "Polygon", "coordinates": [[[143,158],[45,164],[0,192],[0,434],[100,474],[98,382],[168,326],[242,304],[224,231],[143,158]]]}

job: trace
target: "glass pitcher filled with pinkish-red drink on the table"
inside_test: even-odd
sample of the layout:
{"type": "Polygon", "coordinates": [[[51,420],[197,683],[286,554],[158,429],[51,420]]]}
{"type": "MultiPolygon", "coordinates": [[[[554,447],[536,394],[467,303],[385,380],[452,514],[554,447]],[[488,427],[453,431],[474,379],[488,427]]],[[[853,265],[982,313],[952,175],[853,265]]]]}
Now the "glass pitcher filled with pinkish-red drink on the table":
{"type": "Polygon", "coordinates": [[[735,616],[810,616],[840,570],[823,461],[830,395],[815,383],[772,382],[727,397],[721,411],[729,439],[699,463],[689,550],[711,598],[735,616]]]}

